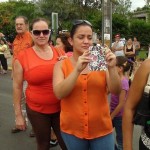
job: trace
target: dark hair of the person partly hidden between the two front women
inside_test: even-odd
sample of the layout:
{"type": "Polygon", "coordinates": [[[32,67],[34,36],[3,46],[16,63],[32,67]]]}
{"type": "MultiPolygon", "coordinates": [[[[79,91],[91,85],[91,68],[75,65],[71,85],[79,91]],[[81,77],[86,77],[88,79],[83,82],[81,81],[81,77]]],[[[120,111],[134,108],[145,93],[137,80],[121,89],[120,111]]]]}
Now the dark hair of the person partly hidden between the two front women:
{"type": "Polygon", "coordinates": [[[70,33],[61,33],[61,34],[58,34],[56,39],[60,38],[62,43],[64,44],[65,46],[65,52],[72,52],[73,51],[73,48],[72,46],[70,45],[68,39],[70,37],[70,33]]]}

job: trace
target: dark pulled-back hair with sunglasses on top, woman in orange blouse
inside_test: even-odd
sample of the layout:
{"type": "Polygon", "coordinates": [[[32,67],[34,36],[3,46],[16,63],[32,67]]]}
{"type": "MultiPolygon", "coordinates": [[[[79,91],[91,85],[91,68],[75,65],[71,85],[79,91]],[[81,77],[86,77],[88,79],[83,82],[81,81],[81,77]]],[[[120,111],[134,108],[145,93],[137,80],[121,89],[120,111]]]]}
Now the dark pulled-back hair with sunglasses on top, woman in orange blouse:
{"type": "Polygon", "coordinates": [[[92,24],[87,21],[87,20],[74,20],[73,21],[73,26],[70,30],[70,37],[73,38],[76,30],[78,29],[79,26],[89,26],[92,28],[92,24]]]}

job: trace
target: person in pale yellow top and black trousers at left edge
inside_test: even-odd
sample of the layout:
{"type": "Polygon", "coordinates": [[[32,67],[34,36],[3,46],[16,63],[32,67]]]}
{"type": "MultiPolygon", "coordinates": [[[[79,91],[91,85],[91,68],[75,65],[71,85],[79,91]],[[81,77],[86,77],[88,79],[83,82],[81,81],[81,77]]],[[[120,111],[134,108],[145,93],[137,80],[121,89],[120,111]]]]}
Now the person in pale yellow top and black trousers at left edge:
{"type": "Polygon", "coordinates": [[[3,69],[1,70],[1,74],[7,74],[8,65],[7,59],[5,58],[4,52],[8,49],[6,40],[4,38],[0,39],[0,62],[2,64],[3,69]]]}

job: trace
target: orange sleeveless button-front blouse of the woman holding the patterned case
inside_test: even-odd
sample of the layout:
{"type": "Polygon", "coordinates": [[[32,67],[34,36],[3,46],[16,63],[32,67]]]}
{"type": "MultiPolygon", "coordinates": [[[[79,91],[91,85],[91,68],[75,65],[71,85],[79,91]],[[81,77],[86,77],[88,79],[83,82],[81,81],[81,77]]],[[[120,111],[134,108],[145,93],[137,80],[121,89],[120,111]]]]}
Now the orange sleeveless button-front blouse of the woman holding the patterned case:
{"type": "MultiPolygon", "coordinates": [[[[69,58],[62,62],[62,70],[65,78],[73,71],[69,58]]],[[[84,139],[113,131],[105,71],[79,75],[72,92],[61,100],[60,122],[63,132],[84,139]]]]}

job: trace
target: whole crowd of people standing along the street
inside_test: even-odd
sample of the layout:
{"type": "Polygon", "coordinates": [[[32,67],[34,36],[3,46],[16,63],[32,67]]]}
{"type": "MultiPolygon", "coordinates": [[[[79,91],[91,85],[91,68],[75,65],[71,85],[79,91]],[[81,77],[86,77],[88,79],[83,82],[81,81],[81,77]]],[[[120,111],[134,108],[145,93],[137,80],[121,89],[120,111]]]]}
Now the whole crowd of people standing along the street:
{"type": "MultiPolygon", "coordinates": [[[[44,18],[33,20],[29,29],[28,19],[18,16],[15,27],[11,75],[15,127],[11,132],[26,130],[30,122],[37,150],[49,150],[51,142],[58,142],[62,150],[132,150],[133,114],[150,72],[150,61],[145,60],[130,87],[140,50],[137,38],[124,44],[116,34],[105,51],[107,70],[91,71],[89,21],[75,20],[70,32],[59,33],[55,42],[44,18]],[[123,130],[122,121],[126,122],[123,130]]],[[[0,61],[6,74],[8,43],[0,35],[0,61]]],[[[144,145],[140,150],[146,149],[144,145]]]]}

